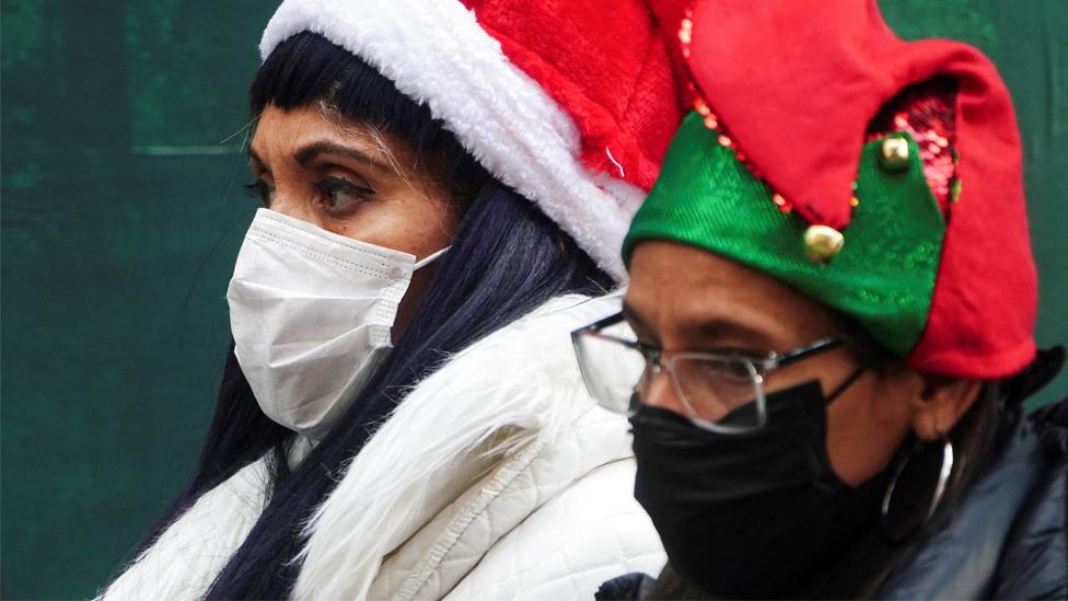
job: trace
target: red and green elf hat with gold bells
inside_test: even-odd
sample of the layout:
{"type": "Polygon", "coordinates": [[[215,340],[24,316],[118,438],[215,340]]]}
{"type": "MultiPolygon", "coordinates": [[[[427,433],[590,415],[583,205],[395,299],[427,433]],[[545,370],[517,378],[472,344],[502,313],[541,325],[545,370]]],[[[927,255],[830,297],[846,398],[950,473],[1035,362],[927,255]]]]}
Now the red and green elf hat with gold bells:
{"type": "Polygon", "coordinates": [[[874,0],[706,0],[678,28],[694,112],[624,243],[685,242],[851,315],[915,369],[1034,358],[1036,277],[1009,93],[907,43],[874,0]]]}

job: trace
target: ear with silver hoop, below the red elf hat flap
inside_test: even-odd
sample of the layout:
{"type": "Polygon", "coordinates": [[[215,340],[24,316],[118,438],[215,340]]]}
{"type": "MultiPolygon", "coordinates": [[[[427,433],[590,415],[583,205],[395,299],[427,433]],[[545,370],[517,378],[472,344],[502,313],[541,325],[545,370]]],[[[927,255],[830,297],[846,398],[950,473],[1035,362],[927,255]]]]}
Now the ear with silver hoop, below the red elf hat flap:
{"type": "Polygon", "coordinates": [[[941,440],[978,398],[983,382],[931,373],[920,378],[924,386],[913,400],[913,431],[920,440],[941,440]]]}

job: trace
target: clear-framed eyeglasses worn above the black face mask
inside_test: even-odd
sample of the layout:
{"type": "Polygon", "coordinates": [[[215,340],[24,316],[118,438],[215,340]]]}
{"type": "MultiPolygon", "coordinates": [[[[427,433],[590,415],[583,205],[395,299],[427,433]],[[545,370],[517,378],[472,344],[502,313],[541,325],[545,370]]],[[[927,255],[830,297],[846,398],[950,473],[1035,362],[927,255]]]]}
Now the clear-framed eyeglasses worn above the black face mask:
{"type": "Polygon", "coordinates": [[[623,313],[571,333],[587,389],[599,404],[632,415],[660,372],[668,373],[686,416],[720,434],[758,430],[767,423],[764,379],[771,371],[845,344],[828,336],[781,355],[663,351],[638,342],[623,313]]]}

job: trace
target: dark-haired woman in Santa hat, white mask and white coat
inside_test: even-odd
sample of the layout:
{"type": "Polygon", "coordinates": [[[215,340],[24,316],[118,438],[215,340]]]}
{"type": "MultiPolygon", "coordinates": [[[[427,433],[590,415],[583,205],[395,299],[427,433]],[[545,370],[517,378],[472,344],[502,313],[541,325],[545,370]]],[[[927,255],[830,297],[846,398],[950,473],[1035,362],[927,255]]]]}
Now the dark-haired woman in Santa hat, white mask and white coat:
{"type": "Polygon", "coordinates": [[[260,49],[219,405],[103,597],[579,599],[661,565],[567,336],[677,120],[647,9],[289,0],[260,49]]]}

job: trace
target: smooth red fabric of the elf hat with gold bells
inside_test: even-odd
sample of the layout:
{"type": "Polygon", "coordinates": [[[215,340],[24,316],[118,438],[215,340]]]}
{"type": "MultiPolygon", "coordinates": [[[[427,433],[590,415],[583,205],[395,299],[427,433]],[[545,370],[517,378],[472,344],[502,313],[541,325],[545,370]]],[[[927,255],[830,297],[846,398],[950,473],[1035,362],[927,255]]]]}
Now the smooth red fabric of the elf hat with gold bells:
{"type": "Polygon", "coordinates": [[[693,22],[690,71],[739,148],[804,219],[839,230],[880,106],[910,83],[956,80],[962,193],[908,360],[972,378],[1025,367],[1037,284],[1015,117],[989,60],[964,44],[901,41],[874,0],[706,0],[693,22]]]}

